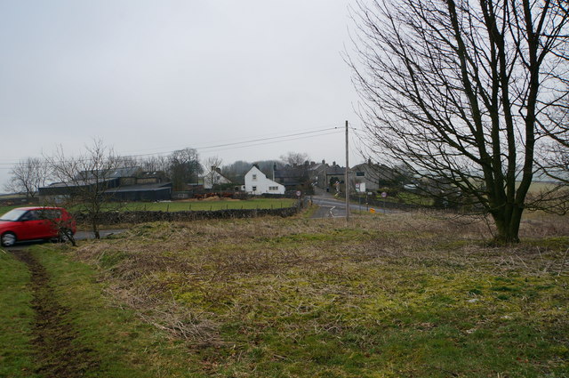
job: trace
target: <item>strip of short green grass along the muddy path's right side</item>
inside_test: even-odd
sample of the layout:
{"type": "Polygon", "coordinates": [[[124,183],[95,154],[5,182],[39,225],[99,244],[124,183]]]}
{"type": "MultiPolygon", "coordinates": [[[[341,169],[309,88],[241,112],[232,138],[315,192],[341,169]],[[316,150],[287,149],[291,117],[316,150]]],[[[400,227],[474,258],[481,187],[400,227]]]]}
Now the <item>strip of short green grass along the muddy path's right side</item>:
{"type": "MultiPolygon", "coordinates": [[[[56,300],[70,309],[66,320],[77,332],[76,342],[92,349],[93,356],[100,361],[99,366],[85,376],[126,378],[187,374],[187,366],[180,364],[188,358],[184,346],[164,331],[140,321],[132,310],[106,298],[106,287],[97,282],[93,269],[72,261],[70,252],[65,247],[37,247],[35,256],[52,277],[56,300]]],[[[114,255],[101,263],[110,266],[120,260],[120,256],[114,255]]]]}

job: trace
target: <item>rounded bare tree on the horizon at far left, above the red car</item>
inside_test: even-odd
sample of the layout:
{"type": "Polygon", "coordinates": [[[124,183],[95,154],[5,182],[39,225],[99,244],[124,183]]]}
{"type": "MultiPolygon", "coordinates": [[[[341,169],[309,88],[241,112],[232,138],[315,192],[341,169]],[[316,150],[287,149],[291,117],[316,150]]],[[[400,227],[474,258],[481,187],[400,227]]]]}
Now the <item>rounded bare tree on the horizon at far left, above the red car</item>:
{"type": "Polygon", "coordinates": [[[45,161],[39,157],[28,157],[20,160],[11,171],[11,180],[6,185],[6,190],[22,193],[26,198],[36,197],[39,187],[45,185],[49,171],[45,161]]]}

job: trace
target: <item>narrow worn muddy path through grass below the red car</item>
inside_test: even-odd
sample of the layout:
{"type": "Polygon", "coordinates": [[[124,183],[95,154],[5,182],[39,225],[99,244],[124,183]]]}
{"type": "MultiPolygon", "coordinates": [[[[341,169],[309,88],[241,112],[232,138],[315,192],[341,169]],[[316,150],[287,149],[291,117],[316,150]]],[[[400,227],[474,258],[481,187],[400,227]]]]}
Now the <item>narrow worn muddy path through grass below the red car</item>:
{"type": "Polygon", "coordinates": [[[45,378],[84,376],[98,366],[92,350],[76,341],[76,331],[66,320],[69,310],[55,300],[50,277],[26,249],[12,250],[31,273],[32,308],[36,312],[32,339],[36,350],[36,374],[45,378]]]}

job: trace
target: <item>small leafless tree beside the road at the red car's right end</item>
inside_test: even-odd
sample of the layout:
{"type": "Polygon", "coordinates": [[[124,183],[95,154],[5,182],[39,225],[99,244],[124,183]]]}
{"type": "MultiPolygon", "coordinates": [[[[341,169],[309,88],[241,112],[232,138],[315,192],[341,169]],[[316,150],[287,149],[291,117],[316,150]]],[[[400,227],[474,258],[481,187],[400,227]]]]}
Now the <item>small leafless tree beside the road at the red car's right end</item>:
{"type": "Polygon", "coordinates": [[[113,173],[120,166],[113,149],[106,147],[102,141],[95,140],[85,152],[78,157],[68,157],[60,147],[46,161],[56,180],[60,181],[48,187],[54,201],[65,201],[68,206],[86,213],[92,232],[100,238],[99,224],[102,213],[113,210],[108,205],[108,194],[105,192],[116,187],[113,173]]]}

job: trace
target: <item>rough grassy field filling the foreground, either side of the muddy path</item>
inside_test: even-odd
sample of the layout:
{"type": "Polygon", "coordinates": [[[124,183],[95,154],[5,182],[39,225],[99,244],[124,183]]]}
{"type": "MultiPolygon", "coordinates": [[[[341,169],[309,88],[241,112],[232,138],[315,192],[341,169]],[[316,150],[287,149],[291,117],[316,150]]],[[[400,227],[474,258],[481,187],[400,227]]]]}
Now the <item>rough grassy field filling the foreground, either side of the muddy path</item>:
{"type": "MultiPolygon", "coordinates": [[[[84,376],[553,378],[569,374],[567,235],[546,218],[491,248],[483,222],[299,216],[152,223],[31,254],[96,361],[84,376]]],[[[0,375],[36,376],[32,278],[0,260],[0,375]]]]}

